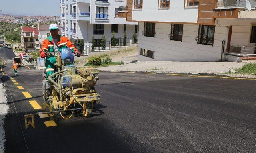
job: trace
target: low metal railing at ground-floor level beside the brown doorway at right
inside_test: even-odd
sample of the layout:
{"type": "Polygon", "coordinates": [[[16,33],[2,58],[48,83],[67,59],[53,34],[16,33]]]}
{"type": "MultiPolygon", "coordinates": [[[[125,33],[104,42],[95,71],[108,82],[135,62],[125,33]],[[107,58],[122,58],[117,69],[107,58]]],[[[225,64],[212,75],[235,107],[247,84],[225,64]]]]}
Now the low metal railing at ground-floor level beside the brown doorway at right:
{"type": "Polygon", "coordinates": [[[229,52],[240,54],[256,54],[256,46],[230,45],[229,52]]]}

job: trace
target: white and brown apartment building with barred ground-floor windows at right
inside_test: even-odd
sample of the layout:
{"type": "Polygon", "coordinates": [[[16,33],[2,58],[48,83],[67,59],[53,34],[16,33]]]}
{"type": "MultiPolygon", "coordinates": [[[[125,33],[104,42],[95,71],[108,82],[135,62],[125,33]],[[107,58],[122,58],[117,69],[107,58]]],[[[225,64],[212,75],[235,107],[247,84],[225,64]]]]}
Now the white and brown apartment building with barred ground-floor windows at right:
{"type": "Polygon", "coordinates": [[[247,1],[250,11],[246,0],[127,0],[118,16],[139,22],[139,61],[241,61],[256,59],[247,1]]]}

